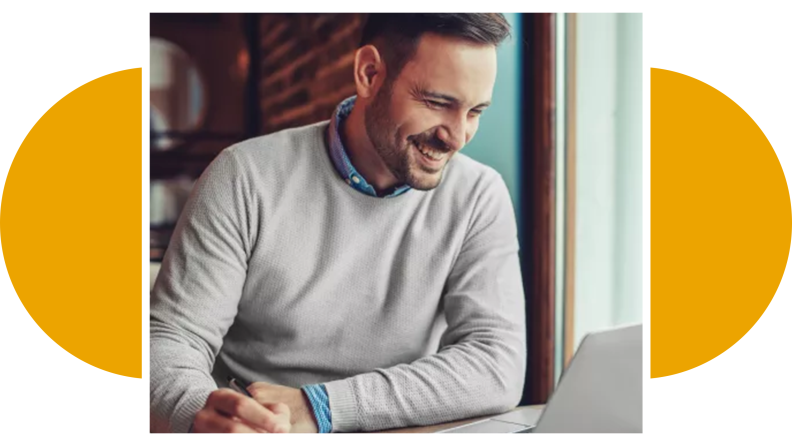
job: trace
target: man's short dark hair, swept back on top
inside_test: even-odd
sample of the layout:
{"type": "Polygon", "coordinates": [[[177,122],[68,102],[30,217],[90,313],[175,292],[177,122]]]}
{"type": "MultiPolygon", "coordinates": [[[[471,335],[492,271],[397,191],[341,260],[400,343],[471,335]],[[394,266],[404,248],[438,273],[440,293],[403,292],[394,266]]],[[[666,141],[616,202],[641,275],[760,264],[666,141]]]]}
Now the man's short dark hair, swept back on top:
{"type": "Polygon", "coordinates": [[[503,14],[369,14],[360,46],[378,46],[392,81],[413,57],[425,33],[458,37],[473,43],[498,46],[511,36],[503,14]],[[391,77],[392,76],[392,77],[391,77]]]}

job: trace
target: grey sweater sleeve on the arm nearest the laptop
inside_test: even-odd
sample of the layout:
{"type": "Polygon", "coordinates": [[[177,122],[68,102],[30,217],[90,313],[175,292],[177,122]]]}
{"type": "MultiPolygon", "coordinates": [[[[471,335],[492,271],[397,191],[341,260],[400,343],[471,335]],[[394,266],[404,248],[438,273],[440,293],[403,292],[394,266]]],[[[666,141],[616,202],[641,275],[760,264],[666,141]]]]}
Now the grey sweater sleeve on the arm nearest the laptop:
{"type": "Polygon", "coordinates": [[[334,432],[438,424],[514,408],[525,376],[517,227],[500,175],[473,206],[442,297],[436,354],[326,383],[334,432]]]}

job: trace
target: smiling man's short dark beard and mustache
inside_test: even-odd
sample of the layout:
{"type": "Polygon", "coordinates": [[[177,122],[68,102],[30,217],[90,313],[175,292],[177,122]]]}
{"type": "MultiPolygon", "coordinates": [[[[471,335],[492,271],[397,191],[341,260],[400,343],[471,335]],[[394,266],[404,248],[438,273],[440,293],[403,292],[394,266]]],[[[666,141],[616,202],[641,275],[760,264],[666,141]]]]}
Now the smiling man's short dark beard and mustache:
{"type": "Polygon", "coordinates": [[[429,169],[413,158],[415,152],[412,146],[431,147],[441,152],[450,152],[450,149],[435,136],[433,130],[402,137],[398,125],[390,116],[391,87],[391,82],[386,80],[366,109],[366,133],[374,150],[400,184],[407,184],[417,190],[434,189],[440,184],[447,163],[438,169],[429,169]]]}

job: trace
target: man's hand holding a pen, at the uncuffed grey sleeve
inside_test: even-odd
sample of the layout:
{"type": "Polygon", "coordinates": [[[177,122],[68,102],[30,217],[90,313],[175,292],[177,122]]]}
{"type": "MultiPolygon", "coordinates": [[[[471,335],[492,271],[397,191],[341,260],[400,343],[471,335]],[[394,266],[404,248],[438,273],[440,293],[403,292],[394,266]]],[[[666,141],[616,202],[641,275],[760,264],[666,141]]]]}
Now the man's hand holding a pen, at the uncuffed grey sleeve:
{"type": "Polygon", "coordinates": [[[196,433],[286,433],[291,413],[285,404],[260,404],[231,389],[215,390],[195,416],[196,433]]]}

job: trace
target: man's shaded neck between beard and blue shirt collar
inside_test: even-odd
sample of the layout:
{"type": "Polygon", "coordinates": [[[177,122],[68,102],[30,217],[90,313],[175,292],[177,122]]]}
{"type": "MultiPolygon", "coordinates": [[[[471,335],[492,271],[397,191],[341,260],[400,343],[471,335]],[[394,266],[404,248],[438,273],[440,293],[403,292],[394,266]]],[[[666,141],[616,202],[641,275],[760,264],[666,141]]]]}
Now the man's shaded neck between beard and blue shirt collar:
{"type": "Polygon", "coordinates": [[[341,141],[355,169],[381,195],[393,189],[398,180],[382,161],[366,133],[363,108],[355,104],[340,126],[341,141]]]}

